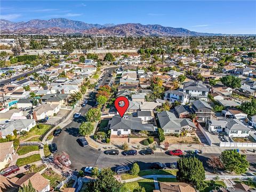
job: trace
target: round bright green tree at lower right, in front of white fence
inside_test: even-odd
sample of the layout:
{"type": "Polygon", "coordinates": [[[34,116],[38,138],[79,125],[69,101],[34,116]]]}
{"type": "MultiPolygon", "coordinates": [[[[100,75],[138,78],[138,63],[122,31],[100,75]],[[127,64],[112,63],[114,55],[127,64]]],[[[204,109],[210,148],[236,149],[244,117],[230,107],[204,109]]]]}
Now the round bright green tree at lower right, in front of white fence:
{"type": "Polygon", "coordinates": [[[242,174],[249,168],[249,162],[246,160],[246,155],[239,154],[236,149],[222,151],[220,159],[225,169],[229,172],[242,174]]]}

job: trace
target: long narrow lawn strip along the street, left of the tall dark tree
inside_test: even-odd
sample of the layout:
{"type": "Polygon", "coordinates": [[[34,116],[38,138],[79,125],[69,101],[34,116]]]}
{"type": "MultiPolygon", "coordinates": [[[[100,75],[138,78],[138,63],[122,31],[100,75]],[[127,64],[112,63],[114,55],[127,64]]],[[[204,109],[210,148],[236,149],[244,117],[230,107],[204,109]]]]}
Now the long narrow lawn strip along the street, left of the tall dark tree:
{"type": "Polygon", "coordinates": [[[123,174],[121,175],[122,180],[126,179],[133,179],[137,177],[142,177],[145,175],[155,175],[155,174],[161,174],[161,175],[176,175],[177,170],[146,170],[146,171],[140,171],[139,175],[131,175],[131,174],[123,174]]]}

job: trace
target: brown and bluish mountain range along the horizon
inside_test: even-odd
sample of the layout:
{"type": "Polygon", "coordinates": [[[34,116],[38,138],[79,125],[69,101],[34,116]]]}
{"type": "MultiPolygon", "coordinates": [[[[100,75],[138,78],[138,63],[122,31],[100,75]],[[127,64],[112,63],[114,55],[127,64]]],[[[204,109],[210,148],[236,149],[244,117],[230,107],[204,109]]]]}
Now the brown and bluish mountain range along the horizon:
{"type": "Polygon", "coordinates": [[[164,27],[161,25],[142,25],[125,23],[114,25],[90,24],[64,18],[50,20],[30,20],[28,22],[11,22],[0,20],[1,34],[85,34],[118,36],[213,36],[221,34],[198,33],[184,28],[164,27]]]}

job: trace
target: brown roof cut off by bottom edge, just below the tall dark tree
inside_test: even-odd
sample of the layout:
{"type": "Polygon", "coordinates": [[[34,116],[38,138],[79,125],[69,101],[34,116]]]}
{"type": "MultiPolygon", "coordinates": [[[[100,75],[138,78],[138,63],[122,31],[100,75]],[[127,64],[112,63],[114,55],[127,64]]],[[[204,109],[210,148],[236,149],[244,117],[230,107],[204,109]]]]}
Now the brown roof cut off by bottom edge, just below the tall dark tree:
{"type": "Polygon", "coordinates": [[[196,192],[196,189],[184,182],[159,182],[159,188],[154,192],[196,192]]]}

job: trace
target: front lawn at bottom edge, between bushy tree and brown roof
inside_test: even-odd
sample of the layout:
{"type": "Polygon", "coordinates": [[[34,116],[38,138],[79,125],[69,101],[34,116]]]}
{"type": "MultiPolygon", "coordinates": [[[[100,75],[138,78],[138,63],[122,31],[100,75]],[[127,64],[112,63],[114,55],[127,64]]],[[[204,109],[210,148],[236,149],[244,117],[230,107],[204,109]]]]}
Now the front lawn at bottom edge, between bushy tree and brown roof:
{"type": "Polygon", "coordinates": [[[141,179],[134,182],[128,182],[124,184],[125,187],[129,188],[130,191],[133,191],[134,189],[138,187],[144,187],[147,192],[151,192],[155,189],[153,178],[150,179],[141,179]]]}

